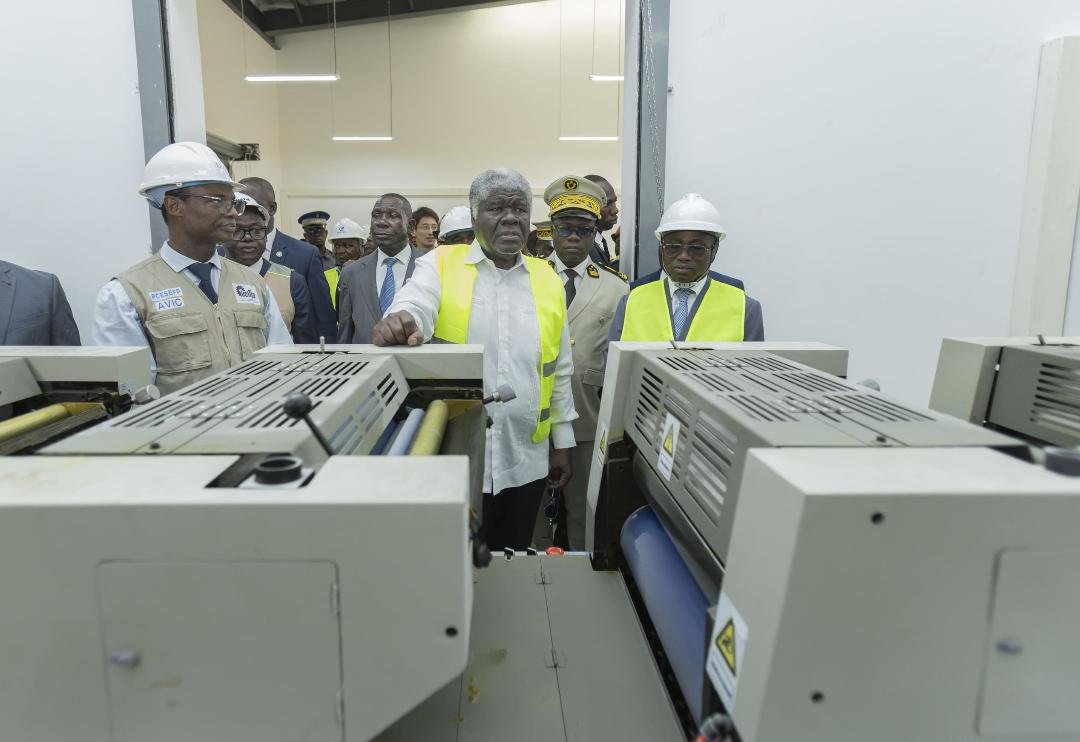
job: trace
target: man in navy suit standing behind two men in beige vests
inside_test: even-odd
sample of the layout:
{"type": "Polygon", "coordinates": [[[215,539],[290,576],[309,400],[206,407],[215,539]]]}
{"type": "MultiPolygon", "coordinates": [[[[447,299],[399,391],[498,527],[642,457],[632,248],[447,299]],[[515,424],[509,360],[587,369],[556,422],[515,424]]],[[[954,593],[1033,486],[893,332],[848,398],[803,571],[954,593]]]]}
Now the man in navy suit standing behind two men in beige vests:
{"type": "Polygon", "coordinates": [[[337,314],[330,303],[330,287],[323,274],[323,259],[319,251],[307,242],[300,242],[274,227],[274,215],[278,213],[278,197],[273,186],[264,178],[243,178],[244,192],[259,202],[270,214],[267,229],[267,253],[264,257],[270,262],[280,262],[292,268],[308,282],[308,293],[311,295],[311,308],[314,310],[312,320],[316,336],[322,336],[326,342],[337,342],[337,314]]]}

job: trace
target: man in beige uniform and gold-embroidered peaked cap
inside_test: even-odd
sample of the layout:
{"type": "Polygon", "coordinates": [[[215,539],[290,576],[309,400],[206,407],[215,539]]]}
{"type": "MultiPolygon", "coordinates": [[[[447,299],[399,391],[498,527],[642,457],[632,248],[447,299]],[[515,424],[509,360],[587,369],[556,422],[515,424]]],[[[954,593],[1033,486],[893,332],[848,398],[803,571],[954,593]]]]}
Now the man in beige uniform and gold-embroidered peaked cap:
{"type": "Polygon", "coordinates": [[[566,299],[573,356],[570,389],[578,419],[573,421],[577,445],[570,458],[573,478],[561,491],[552,491],[551,512],[541,512],[537,518],[532,538],[541,549],[550,545],[572,551],[585,549],[585,495],[607,362],[608,325],[619,301],[630,291],[625,274],[607,265],[597,265],[590,257],[605,198],[599,186],[577,175],[556,178],[543,194],[554,243],[548,262],[562,281],[566,299]],[[557,526],[554,532],[552,525],[557,526]]]}

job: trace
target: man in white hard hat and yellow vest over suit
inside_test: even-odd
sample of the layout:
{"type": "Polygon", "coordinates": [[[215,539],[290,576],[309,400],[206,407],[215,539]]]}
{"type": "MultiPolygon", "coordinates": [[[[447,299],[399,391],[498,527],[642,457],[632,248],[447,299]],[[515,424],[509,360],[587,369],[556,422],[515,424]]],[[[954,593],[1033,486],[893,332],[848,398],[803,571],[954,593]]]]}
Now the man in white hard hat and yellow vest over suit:
{"type": "Polygon", "coordinates": [[[761,305],[739,279],[710,270],[720,240],[716,207],[687,193],[660,217],[661,270],[631,285],[610,340],[764,340],[761,305]]]}

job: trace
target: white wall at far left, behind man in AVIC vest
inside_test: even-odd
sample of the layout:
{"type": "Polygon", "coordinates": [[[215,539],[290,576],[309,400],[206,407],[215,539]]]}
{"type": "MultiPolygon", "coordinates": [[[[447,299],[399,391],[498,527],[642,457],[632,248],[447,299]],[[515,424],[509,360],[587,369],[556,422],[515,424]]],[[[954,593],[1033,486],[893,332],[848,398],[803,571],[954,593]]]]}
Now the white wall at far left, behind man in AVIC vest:
{"type": "Polygon", "coordinates": [[[56,273],[84,342],[97,289],[149,254],[131,2],[9,3],[0,257],[56,273]]]}

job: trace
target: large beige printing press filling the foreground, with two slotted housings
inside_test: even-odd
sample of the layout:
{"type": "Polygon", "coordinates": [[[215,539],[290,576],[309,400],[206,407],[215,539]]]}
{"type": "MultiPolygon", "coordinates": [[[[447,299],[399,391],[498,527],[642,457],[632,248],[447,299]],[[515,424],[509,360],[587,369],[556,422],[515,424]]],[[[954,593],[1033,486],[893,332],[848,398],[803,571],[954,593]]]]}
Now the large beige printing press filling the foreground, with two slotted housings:
{"type": "Polygon", "coordinates": [[[325,350],[0,459],[0,739],[1080,739],[1080,485],[1024,442],[827,346],[612,343],[589,552],[485,568],[481,349],[325,350]]]}

